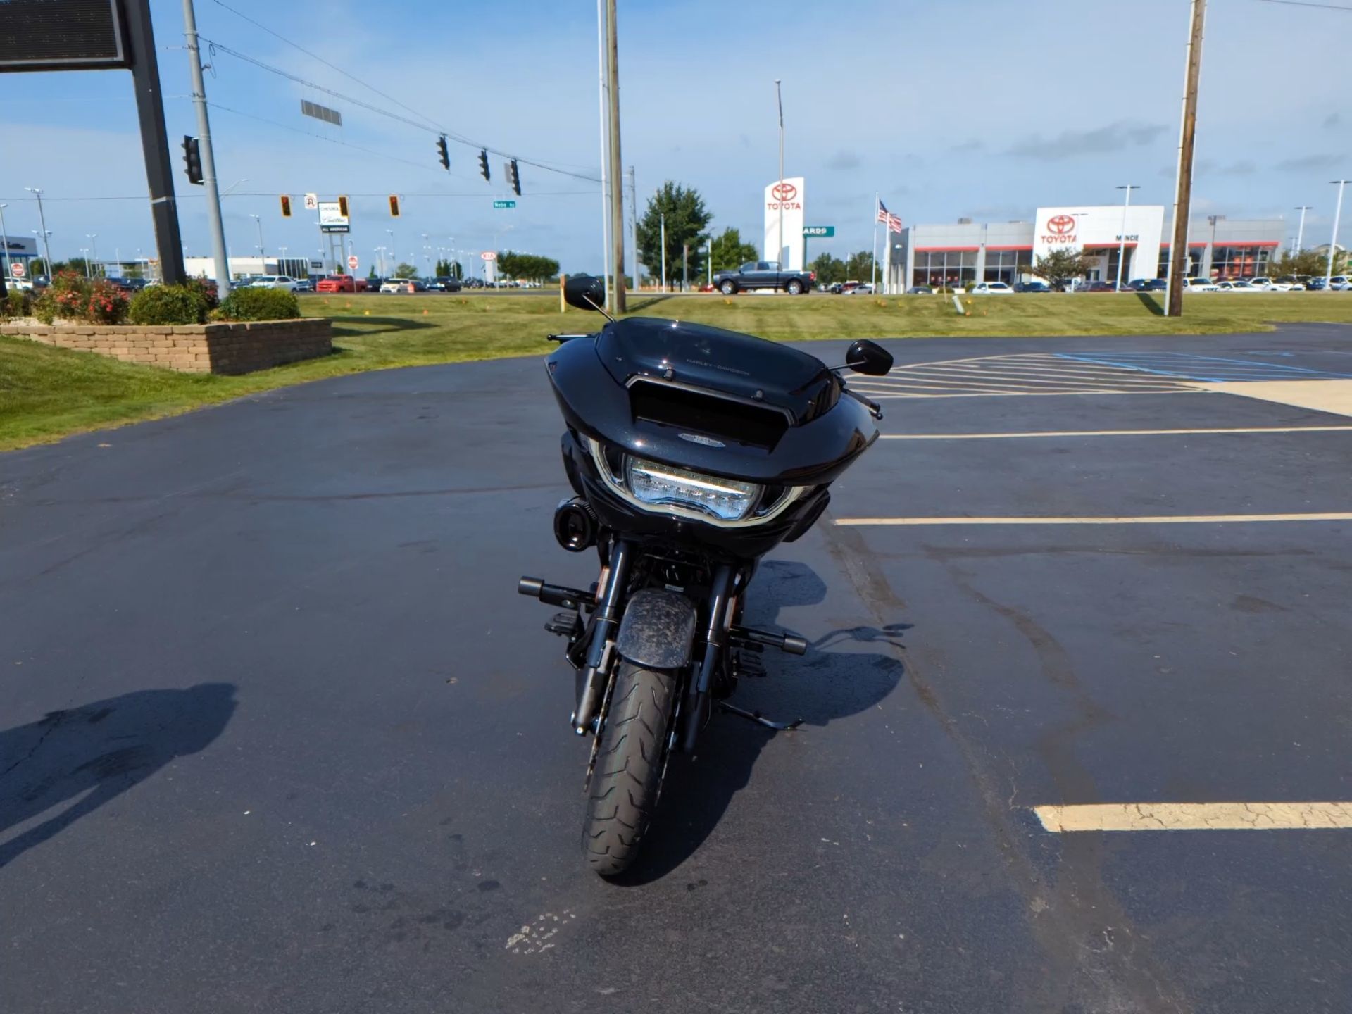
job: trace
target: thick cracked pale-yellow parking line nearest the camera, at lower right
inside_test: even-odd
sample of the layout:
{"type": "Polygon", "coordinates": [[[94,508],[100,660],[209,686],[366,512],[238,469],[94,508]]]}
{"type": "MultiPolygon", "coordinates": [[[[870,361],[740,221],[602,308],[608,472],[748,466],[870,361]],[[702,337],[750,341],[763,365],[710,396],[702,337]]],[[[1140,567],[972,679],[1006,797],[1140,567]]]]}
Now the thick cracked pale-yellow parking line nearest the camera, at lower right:
{"type": "Polygon", "coordinates": [[[1352,803],[1088,803],[1034,806],[1042,830],[1278,831],[1352,827],[1352,803]]]}

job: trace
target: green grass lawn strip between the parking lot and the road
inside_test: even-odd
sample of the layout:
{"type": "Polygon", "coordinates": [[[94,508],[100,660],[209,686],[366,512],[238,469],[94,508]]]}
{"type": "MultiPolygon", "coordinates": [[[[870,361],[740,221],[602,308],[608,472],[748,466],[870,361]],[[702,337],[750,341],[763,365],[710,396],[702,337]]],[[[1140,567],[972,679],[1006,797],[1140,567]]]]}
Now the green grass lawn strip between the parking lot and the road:
{"type": "MultiPolygon", "coordinates": [[[[749,331],[775,341],[942,335],[1213,334],[1270,322],[1352,323],[1352,293],[1195,293],[1184,316],[1137,295],[983,296],[960,316],[942,296],[637,296],[637,314],[749,331]]],[[[544,354],[550,331],[589,330],[600,318],[558,312],[553,296],[304,296],[307,315],[334,320],[324,360],[218,377],[134,366],[22,338],[0,338],[0,450],[189,411],[320,377],[392,366],[544,354]]]]}

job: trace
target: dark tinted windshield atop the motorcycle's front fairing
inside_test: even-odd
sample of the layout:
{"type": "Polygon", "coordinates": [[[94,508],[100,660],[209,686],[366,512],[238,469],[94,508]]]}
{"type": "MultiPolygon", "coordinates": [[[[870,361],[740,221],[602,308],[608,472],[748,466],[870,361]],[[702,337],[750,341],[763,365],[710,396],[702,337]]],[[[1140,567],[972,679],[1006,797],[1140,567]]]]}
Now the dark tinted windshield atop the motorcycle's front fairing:
{"type": "Polygon", "coordinates": [[[821,360],[719,327],[626,318],[608,324],[596,353],[617,383],[637,377],[719,391],[788,414],[796,425],[836,403],[840,381],[821,360]]]}

